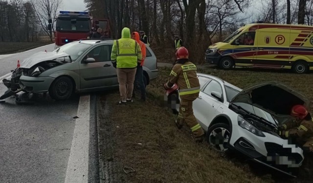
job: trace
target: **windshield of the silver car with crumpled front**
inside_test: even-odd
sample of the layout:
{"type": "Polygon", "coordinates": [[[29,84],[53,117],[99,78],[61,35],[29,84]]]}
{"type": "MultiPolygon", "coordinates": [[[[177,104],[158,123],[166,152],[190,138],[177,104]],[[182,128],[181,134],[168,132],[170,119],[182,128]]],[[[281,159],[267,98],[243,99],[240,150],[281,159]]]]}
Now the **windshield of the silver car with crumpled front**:
{"type": "Polygon", "coordinates": [[[60,48],[54,50],[53,52],[67,53],[68,55],[70,55],[72,61],[76,61],[76,59],[81,54],[83,54],[90,46],[91,46],[90,44],[71,42],[61,46],[60,48]]]}

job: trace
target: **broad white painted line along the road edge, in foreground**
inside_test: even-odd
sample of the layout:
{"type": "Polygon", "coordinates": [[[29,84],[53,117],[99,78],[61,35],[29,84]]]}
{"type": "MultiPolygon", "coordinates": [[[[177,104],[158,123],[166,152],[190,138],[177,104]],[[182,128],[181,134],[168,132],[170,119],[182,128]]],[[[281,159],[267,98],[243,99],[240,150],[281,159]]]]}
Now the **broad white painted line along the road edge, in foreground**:
{"type": "Polygon", "coordinates": [[[65,183],[88,183],[90,95],[79,99],[65,183]]]}

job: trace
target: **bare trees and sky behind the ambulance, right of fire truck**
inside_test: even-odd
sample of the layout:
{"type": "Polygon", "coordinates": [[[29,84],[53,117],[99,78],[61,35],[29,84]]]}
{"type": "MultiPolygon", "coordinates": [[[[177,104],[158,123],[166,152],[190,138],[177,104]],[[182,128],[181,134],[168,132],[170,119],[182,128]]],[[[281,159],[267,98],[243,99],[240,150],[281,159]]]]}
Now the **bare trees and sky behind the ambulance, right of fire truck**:
{"type": "MultiPolygon", "coordinates": [[[[313,23],[312,0],[84,0],[93,17],[110,20],[113,38],[127,26],[144,30],[153,45],[174,47],[179,35],[191,54],[204,58],[205,49],[222,41],[244,25],[244,13],[261,3],[255,21],[268,23],[313,23]]],[[[172,54],[172,53],[171,53],[172,54]]]]}

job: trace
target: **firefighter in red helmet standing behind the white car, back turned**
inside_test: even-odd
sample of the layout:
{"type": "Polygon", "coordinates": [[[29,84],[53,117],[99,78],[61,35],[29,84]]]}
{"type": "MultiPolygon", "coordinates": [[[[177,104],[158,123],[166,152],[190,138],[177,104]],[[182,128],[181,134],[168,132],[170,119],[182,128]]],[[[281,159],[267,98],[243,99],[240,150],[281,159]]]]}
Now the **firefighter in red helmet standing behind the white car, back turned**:
{"type": "Polygon", "coordinates": [[[177,62],[173,66],[168,82],[163,84],[166,90],[170,89],[174,83],[179,86],[179,115],[176,122],[180,129],[184,122],[190,127],[196,142],[202,142],[204,138],[203,130],[197,122],[192,102],[198,98],[200,92],[200,84],[197,78],[197,67],[188,61],[188,50],[180,47],[176,52],[177,62]]]}

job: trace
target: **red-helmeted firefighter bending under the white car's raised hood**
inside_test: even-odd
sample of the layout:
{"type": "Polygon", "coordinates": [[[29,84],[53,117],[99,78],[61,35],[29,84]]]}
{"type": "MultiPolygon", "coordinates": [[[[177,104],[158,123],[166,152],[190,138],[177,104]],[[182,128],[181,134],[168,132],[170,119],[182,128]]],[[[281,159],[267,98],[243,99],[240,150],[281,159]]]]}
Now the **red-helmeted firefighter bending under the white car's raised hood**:
{"type": "Polygon", "coordinates": [[[277,133],[282,138],[291,138],[302,145],[306,152],[313,152],[313,118],[303,105],[295,105],[291,109],[291,120],[281,125],[277,133]]]}

